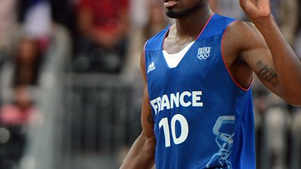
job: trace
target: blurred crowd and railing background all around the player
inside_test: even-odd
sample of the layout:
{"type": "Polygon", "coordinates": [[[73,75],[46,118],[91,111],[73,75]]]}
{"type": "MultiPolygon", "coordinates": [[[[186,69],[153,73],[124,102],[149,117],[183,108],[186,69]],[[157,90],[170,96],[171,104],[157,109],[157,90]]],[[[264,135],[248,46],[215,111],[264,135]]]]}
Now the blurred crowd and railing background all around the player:
{"type": "MultiPolygon", "coordinates": [[[[271,6],[301,57],[300,1],[271,6]]],[[[163,1],[0,0],[0,21],[0,169],[118,168],[141,132],[141,50],[173,22],[163,1]]],[[[300,169],[301,108],[253,89],[257,168],[300,169]]]]}

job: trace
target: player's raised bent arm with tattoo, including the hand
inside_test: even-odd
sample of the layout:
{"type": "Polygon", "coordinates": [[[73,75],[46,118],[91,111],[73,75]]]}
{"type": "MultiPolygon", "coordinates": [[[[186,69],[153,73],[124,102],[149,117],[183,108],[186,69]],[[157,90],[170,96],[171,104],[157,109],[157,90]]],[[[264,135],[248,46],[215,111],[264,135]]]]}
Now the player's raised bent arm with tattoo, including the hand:
{"type": "Polygon", "coordinates": [[[257,28],[235,23],[244,31],[242,58],[270,90],[289,104],[301,105],[301,64],[271,15],[270,0],[240,0],[240,6],[257,28]]]}

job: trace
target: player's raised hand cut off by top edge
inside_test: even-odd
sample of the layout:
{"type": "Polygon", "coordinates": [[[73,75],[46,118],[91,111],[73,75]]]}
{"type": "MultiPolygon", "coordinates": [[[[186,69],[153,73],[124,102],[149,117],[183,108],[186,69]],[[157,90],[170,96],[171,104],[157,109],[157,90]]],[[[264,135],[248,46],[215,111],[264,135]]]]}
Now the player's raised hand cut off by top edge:
{"type": "Polygon", "coordinates": [[[270,0],[240,0],[240,6],[253,21],[271,15],[270,0]]]}

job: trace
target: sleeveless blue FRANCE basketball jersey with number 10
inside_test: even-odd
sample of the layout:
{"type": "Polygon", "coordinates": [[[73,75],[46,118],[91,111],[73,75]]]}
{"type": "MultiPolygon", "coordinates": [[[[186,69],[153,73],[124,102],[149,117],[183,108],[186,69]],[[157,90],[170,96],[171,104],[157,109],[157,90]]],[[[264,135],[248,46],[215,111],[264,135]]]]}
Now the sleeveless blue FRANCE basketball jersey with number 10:
{"type": "Polygon", "coordinates": [[[169,27],[146,43],[157,169],[255,168],[252,91],[236,83],[222,55],[231,22],[213,14],[173,68],[162,51],[169,27]]]}

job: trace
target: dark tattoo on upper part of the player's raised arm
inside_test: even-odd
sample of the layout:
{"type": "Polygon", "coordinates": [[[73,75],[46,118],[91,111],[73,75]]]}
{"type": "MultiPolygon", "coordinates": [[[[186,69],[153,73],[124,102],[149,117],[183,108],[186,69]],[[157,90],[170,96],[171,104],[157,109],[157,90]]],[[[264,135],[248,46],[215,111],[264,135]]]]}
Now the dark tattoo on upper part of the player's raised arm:
{"type": "Polygon", "coordinates": [[[258,76],[262,77],[265,81],[268,81],[274,88],[276,88],[279,83],[276,71],[268,67],[268,65],[264,65],[261,61],[257,62],[257,67],[258,76]]]}

